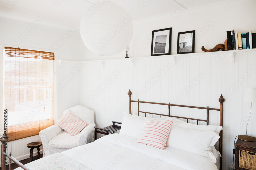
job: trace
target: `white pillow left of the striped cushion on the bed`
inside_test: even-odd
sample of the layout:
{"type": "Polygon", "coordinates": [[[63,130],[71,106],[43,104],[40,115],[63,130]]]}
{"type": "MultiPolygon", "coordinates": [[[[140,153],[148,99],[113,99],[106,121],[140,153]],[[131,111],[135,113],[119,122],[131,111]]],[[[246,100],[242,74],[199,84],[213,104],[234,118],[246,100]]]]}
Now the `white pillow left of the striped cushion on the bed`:
{"type": "Polygon", "coordinates": [[[143,130],[144,122],[145,119],[140,119],[138,116],[125,113],[119,134],[139,138],[143,130]]]}

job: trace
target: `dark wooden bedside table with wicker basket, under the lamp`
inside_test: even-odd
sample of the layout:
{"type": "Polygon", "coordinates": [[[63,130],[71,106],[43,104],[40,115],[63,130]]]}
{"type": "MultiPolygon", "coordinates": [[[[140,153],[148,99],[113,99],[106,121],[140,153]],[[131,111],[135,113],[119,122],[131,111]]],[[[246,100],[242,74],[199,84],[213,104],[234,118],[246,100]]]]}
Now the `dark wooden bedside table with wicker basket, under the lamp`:
{"type": "Polygon", "coordinates": [[[235,163],[236,170],[256,169],[256,141],[237,139],[235,163]]]}

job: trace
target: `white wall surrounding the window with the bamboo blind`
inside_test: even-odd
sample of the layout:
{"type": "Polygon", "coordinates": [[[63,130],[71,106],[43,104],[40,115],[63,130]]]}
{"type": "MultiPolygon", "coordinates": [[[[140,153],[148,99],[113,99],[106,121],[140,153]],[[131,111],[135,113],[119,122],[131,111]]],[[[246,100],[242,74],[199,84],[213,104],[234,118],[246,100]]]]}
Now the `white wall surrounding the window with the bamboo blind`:
{"type": "MultiPolygon", "coordinates": [[[[67,34],[69,30],[59,30],[56,28],[45,27],[42,24],[38,24],[37,27],[33,30],[29,29],[29,25],[32,23],[25,23],[13,20],[7,20],[0,18],[0,47],[10,46],[10,47],[20,47],[26,49],[38,49],[38,50],[47,50],[55,49],[54,46],[57,46],[60,41],[60,45],[55,49],[55,56],[57,60],[73,60],[78,61],[80,52],[79,52],[79,34],[77,30],[72,33],[67,38],[63,37],[64,34],[67,34]],[[29,34],[26,34],[24,39],[17,45],[14,44],[14,41],[17,41],[17,37],[25,35],[26,30],[29,31],[29,34]],[[65,41],[64,41],[65,40],[65,41]]],[[[70,31],[71,33],[72,31],[70,31]]],[[[0,88],[3,89],[3,74],[2,66],[3,62],[2,51],[0,51],[0,88]]],[[[58,62],[56,60],[56,62],[58,62]]],[[[62,115],[64,109],[70,108],[72,106],[79,104],[79,72],[73,72],[72,70],[78,66],[78,62],[62,62],[62,64],[56,68],[57,73],[57,82],[56,85],[59,88],[57,91],[56,101],[57,101],[57,114],[56,118],[58,119],[62,115]],[[72,77],[70,78],[70,74],[72,77]],[[70,79],[70,80],[69,80],[70,79]],[[66,81],[69,80],[69,81],[66,81]],[[62,84],[61,82],[65,82],[62,84]]],[[[0,90],[0,117],[3,119],[3,110],[8,108],[3,108],[3,90],[0,90]]],[[[3,127],[3,121],[0,122],[0,127],[3,127]]],[[[3,133],[3,128],[0,129],[0,134],[3,133]]],[[[40,141],[40,137],[32,136],[24,139],[19,139],[16,141],[8,142],[9,152],[13,153],[13,156],[17,160],[23,160],[29,158],[29,148],[26,147],[27,143],[33,141],[40,141]]],[[[40,147],[42,151],[42,147],[40,147]]],[[[34,150],[36,152],[36,150],[34,150]]]]}

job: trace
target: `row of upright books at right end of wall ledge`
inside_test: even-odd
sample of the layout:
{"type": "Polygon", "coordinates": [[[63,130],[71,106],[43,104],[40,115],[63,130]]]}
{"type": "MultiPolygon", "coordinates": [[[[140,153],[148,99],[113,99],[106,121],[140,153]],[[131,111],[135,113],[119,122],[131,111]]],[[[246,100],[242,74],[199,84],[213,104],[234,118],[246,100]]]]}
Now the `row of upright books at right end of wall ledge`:
{"type": "Polygon", "coordinates": [[[227,31],[227,40],[225,41],[225,50],[240,50],[256,48],[256,33],[251,31],[247,33],[227,31]]]}

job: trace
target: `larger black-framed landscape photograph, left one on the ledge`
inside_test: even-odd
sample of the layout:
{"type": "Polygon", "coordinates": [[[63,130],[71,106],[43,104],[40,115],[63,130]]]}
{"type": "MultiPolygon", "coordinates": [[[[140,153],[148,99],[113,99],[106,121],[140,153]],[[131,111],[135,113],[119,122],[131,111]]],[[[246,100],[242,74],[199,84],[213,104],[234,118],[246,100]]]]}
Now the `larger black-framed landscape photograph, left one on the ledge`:
{"type": "Polygon", "coordinates": [[[172,28],[152,31],[151,56],[171,54],[172,28]]]}

